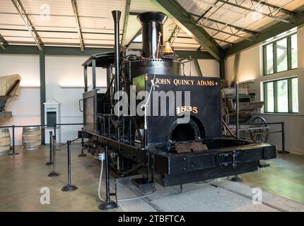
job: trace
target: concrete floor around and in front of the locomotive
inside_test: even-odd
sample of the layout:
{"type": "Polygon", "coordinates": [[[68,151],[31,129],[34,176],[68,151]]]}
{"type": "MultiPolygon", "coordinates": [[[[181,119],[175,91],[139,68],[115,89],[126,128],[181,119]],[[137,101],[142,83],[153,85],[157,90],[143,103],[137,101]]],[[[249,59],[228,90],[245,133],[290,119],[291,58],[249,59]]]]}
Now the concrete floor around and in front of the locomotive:
{"type": "MultiPolygon", "coordinates": [[[[59,177],[47,177],[45,166],[49,149],[42,147],[19,155],[0,155],[0,211],[100,211],[97,196],[100,162],[92,157],[77,157],[80,148],[72,147],[72,183],[78,190],[62,192],[66,184],[66,146],[57,151],[59,177]],[[40,189],[50,191],[50,204],[40,203],[40,189]]],[[[156,193],[136,201],[121,201],[111,211],[304,211],[304,156],[278,155],[271,167],[243,174],[243,183],[225,178],[211,184],[186,184],[168,189],[156,184],[156,193]],[[252,188],[263,191],[262,205],[252,204],[252,188]],[[281,197],[283,198],[281,198],[281,197]]],[[[114,179],[111,179],[114,184],[114,179]]],[[[141,195],[130,179],[117,183],[118,198],[141,195]]],[[[103,194],[105,191],[103,190],[103,194]]]]}

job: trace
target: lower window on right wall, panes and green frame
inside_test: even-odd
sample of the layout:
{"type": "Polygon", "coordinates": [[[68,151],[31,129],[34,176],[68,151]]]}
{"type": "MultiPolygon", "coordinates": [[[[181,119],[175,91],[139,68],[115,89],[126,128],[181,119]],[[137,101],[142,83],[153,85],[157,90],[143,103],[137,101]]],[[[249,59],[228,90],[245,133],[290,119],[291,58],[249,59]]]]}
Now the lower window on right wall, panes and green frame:
{"type": "Polygon", "coordinates": [[[298,78],[264,83],[266,113],[298,113],[298,78]]]}

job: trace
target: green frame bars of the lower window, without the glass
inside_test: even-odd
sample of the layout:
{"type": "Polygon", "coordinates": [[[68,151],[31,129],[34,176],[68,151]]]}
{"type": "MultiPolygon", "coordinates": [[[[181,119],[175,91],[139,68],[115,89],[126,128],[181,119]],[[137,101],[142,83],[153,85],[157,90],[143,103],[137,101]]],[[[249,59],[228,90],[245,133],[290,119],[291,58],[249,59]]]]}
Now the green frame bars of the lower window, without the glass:
{"type": "Polygon", "coordinates": [[[293,112],[293,96],[292,96],[292,79],[298,78],[298,76],[292,76],[288,78],[281,78],[277,80],[265,81],[263,82],[264,89],[264,113],[270,114],[298,114],[298,112],[293,112]],[[278,112],[278,82],[279,81],[287,81],[287,95],[288,95],[288,112],[278,112]],[[269,112],[267,107],[267,83],[273,83],[274,90],[274,112],[269,112]]]}

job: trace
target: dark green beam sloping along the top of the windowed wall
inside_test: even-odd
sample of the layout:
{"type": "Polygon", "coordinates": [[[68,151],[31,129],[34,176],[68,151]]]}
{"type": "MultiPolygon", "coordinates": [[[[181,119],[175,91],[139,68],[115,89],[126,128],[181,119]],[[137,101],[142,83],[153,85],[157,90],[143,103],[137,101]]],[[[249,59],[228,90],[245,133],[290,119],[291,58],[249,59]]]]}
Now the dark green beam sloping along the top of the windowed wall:
{"type": "Polygon", "coordinates": [[[288,30],[291,30],[293,28],[296,28],[300,25],[304,24],[304,11],[297,13],[295,16],[289,19],[291,23],[279,23],[277,25],[272,26],[271,28],[268,28],[266,30],[263,30],[258,35],[250,37],[250,40],[245,40],[242,42],[238,42],[236,44],[233,44],[232,47],[229,49],[226,49],[225,56],[228,57],[232,54],[235,54],[237,52],[240,52],[244,49],[250,48],[256,44],[259,44],[260,42],[263,42],[265,40],[268,40],[271,37],[274,37],[276,35],[279,35],[283,32],[286,32],[288,30]]]}

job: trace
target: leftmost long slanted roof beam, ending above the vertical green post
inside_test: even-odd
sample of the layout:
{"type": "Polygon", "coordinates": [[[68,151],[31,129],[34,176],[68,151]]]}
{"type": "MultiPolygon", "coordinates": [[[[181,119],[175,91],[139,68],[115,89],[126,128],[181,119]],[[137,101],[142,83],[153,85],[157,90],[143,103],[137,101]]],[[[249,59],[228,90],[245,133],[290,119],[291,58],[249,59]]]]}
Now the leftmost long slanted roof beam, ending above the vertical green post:
{"type": "Polygon", "coordinates": [[[33,36],[33,39],[35,43],[37,44],[37,47],[40,51],[42,51],[43,43],[41,41],[41,38],[39,37],[37,31],[35,30],[35,27],[33,23],[30,21],[30,18],[28,18],[28,14],[26,13],[21,0],[11,0],[13,3],[13,6],[15,6],[16,10],[18,11],[19,15],[21,16],[23,23],[25,24],[25,27],[28,28],[28,32],[30,32],[30,35],[33,36]]]}

